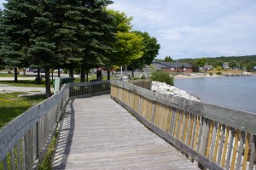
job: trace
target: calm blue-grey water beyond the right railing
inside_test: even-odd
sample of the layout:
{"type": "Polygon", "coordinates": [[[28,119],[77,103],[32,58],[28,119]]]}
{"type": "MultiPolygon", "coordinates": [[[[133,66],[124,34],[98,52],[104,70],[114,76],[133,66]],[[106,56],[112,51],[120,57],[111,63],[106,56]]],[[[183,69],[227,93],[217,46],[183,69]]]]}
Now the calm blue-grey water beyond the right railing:
{"type": "Polygon", "coordinates": [[[256,114],[256,76],[175,79],[175,86],[202,102],[256,114]]]}

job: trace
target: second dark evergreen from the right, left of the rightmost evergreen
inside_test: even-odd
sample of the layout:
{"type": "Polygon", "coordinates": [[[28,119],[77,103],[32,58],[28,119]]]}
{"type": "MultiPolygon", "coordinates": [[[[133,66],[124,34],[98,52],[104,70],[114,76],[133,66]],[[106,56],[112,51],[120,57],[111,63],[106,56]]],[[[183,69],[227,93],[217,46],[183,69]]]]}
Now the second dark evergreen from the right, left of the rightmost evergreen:
{"type": "Polygon", "coordinates": [[[55,23],[58,27],[55,31],[55,45],[57,47],[58,66],[69,68],[70,77],[73,71],[80,65],[82,59],[82,47],[79,45],[79,31],[84,31],[81,20],[81,2],[79,0],[56,0],[55,23]]]}

